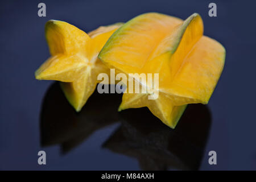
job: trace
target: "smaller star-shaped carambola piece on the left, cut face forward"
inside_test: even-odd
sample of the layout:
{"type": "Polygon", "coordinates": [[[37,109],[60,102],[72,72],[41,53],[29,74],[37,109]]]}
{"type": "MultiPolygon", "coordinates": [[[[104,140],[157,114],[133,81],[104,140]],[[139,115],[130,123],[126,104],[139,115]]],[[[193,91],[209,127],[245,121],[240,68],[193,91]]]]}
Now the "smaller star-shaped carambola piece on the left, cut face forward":
{"type": "Polygon", "coordinates": [[[46,39],[52,56],[35,72],[36,79],[62,81],[69,103],[80,111],[96,88],[98,73],[109,74],[97,56],[119,26],[100,27],[86,34],[69,23],[49,20],[46,39]]]}

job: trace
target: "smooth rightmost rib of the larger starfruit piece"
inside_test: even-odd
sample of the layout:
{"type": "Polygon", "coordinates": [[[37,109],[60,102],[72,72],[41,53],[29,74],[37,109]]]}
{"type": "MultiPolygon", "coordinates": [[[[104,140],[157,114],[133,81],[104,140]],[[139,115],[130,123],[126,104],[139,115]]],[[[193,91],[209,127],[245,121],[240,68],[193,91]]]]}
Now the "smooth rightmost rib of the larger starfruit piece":
{"type": "Polygon", "coordinates": [[[169,92],[193,98],[186,104],[207,104],[220,78],[224,62],[225,48],[216,40],[203,36],[185,57],[169,92]]]}

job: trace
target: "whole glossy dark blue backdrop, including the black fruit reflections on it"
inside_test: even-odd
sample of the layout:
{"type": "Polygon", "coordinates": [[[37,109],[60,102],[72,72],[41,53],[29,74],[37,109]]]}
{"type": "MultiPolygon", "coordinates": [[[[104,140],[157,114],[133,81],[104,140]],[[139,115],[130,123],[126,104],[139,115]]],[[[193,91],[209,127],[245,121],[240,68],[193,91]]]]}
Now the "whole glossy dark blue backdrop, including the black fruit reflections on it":
{"type": "Polygon", "coordinates": [[[255,3],[215,1],[6,1],[0,6],[0,169],[256,169],[255,3]],[[204,34],[226,48],[209,104],[189,105],[175,130],[146,108],[117,112],[121,95],[98,94],[76,113],[57,82],[34,71],[49,57],[44,24],[65,20],[88,32],[145,12],[185,19],[199,13],[204,34]],[[38,165],[38,151],[47,164],[38,165]],[[217,152],[210,166],[208,152],[217,152]]]}

